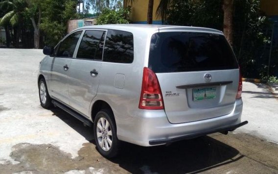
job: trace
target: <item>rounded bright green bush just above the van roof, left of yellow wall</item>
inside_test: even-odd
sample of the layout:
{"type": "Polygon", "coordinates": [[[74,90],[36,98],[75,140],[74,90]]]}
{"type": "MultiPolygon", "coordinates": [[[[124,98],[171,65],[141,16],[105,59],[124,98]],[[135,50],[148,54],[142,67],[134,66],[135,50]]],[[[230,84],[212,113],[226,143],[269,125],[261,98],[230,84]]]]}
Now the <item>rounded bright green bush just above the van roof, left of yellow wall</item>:
{"type": "Polygon", "coordinates": [[[99,15],[96,24],[120,24],[120,23],[130,23],[131,18],[130,8],[120,8],[118,10],[104,9],[99,15]]]}

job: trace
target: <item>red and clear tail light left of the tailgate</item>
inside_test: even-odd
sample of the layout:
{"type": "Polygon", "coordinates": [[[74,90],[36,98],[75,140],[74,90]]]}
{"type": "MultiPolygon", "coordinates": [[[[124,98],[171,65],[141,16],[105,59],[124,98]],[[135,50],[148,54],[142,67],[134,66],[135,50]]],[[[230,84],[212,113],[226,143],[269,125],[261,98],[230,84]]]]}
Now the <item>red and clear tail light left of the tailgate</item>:
{"type": "Polygon", "coordinates": [[[162,92],[156,74],[144,67],[140,109],[164,109],[162,92]]]}

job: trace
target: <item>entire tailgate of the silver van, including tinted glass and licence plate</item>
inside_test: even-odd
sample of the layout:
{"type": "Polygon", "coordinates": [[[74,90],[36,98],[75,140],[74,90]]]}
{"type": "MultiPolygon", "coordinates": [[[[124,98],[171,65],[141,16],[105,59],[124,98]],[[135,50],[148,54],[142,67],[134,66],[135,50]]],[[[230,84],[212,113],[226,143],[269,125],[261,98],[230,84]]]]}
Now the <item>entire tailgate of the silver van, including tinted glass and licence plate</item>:
{"type": "Polygon", "coordinates": [[[162,32],[151,39],[149,68],[159,80],[171,123],[230,114],[239,70],[223,35],[162,32]]]}

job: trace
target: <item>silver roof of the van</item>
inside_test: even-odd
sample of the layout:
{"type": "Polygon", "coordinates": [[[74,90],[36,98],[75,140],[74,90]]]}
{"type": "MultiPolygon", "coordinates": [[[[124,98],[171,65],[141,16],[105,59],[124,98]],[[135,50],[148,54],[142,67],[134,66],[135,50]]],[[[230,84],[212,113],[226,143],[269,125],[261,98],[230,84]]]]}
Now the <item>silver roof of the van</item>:
{"type": "MultiPolygon", "coordinates": [[[[170,31],[186,31],[186,32],[206,32],[223,35],[223,33],[216,29],[192,27],[192,26],[178,26],[178,25],[151,25],[151,24],[106,24],[106,25],[90,25],[78,29],[114,29],[132,32],[140,30],[141,32],[170,32],[170,31]]],[[[77,29],[77,30],[78,30],[77,29]]]]}

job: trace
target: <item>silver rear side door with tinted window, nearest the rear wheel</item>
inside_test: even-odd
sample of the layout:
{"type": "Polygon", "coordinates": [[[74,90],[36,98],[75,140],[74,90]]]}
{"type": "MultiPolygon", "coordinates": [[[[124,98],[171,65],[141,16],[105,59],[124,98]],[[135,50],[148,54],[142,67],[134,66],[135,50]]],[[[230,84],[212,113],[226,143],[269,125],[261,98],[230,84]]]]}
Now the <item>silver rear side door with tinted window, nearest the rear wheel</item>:
{"type": "Polygon", "coordinates": [[[106,30],[86,30],[70,66],[70,106],[85,116],[98,89],[105,35],[106,30]]]}

